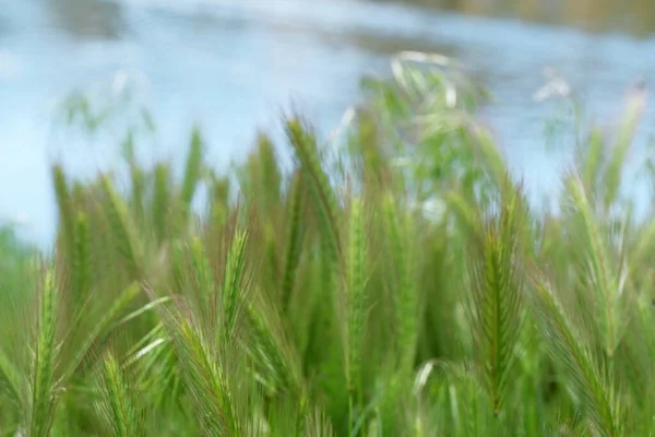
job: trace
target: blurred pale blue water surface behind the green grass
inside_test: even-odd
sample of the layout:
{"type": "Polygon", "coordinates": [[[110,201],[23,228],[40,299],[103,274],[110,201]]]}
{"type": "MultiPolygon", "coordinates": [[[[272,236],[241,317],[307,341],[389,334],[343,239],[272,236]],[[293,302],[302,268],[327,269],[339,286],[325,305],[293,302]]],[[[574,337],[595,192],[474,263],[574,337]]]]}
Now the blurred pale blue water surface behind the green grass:
{"type": "MultiPolygon", "coordinates": [[[[456,57],[491,90],[497,102],[479,118],[536,193],[562,165],[546,134],[560,106],[534,99],[545,68],[557,68],[591,115],[609,122],[635,81],[655,79],[653,37],[390,2],[0,0],[0,221],[23,220],[25,235],[50,240],[52,157],[66,155],[80,174],[116,157],[75,144],[116,143],[117,131],[78,141],[57,129],[57,103],[73,90],[132,78],[156,121],[148,141],[157,154],[181,158],[198,122],[210,158],[226,165],[291,102],[329,133],[358,97],[362,74],[386,74],[389,56],[402,49],[456,57]]],[[[650,106],[639,147],[654,126],[650,106]]],[[[559,143],[565,147],[565,138],[559,143]]]]}

